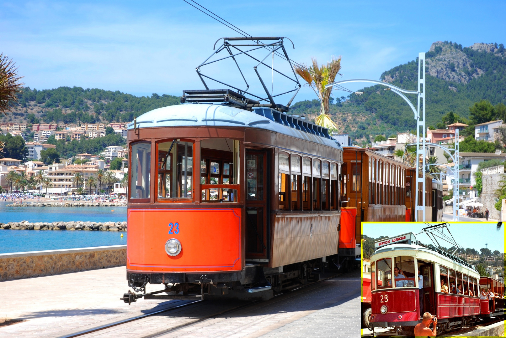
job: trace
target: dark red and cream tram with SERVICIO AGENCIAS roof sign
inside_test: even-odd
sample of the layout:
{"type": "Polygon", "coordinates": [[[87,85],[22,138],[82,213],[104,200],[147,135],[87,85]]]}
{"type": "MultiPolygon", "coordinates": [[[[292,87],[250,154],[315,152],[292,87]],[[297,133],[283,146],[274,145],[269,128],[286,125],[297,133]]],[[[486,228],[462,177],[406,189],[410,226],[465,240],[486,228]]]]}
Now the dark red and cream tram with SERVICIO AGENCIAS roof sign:
{"type": "Polygon", "coordinates": [[[480,288],[500,293],[504,285],[480,278],[469,263],[416,242],[411,233],[377,241],[375,247],[370,257],[369,327],[394,327],[398,333],[411,334],[421,314],[430,312],[438,318],[438,332],[443,332],[504,315],[503,299],[495,299],[495,312],[490,312],[488,300],[480,300],[480,288]],[[442,292],[442,285],[448,293],[442,292]]]}

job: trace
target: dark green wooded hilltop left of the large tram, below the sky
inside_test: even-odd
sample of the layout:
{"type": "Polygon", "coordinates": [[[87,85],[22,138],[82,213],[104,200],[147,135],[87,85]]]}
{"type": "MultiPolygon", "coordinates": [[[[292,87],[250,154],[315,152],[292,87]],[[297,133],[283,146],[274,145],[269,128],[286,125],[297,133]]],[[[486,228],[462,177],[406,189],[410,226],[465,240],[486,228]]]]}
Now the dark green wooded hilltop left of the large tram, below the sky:
{"type": "MultiPolygon", "coordinates": [[[[36,90],[25,87],[18,94],[24,102],[44,104],[45,108],[53,108],[44,116],[44,121],[63,121],[66,123],[93,123],[101,115],[105,120],[113,122],[130,122],[146,111],[167,105],[179,104],[180,98],[173,95],[137,97],[119,90],[83,89],[81,87],[59,87],[56,89],[36,90]],[[90,108],[90,103],[93,109],[90,108]],[[73,111],[62,114],[61,109],[73,111]],[[91,112],[91,114],[90,114],[91,112]]],[[[35,122],[32,122],[35,123],[35,122]]]]}

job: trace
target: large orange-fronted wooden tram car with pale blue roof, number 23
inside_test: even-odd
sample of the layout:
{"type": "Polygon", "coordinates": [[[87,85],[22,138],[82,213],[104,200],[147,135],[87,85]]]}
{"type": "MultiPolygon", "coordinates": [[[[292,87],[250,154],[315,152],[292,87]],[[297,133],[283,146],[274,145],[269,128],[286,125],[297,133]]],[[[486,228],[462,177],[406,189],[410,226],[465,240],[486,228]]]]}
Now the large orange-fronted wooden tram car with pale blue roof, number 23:
{"type": "Polygon", "coordinates": [[[353,215],[341,224],[343,150],[321,127],[270,108],[184,104],[140,116],[128,143],[135,290],[266,299],[317,278],[339,250],[360,254],[353,215]]]}

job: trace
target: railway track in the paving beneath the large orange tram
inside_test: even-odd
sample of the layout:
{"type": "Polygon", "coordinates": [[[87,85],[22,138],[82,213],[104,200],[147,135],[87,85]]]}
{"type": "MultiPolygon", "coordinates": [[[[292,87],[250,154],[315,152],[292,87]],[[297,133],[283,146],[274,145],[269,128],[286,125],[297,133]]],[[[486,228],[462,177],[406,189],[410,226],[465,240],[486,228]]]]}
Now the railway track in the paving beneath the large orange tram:
{"type": "Polygon", "coordinates": [[[343,276],[343,275],[347,275],[347,274],[350,274],[353,272],[354,271],[332,274],[332,275],[327,276],[323,279],[319,279],[318,281],[295,287],[294,289],[290,290],[289,292],[279,293],[279,294],[275,295],[272,299],[270,299],[268,301],[264,301],[264,302],[261,302],[261,301],[246,302],[246,303],[245,302],[230,302],[230,304],[228,306],[223,306],[223,304],[224,304],[223,301],[220,302],[219,304],[218,304],[218,302],[213,302],[213,301],[208,301],[208,300],[196,300],[196,301],[188,301],[188,302],[180,301],[180,302],[178,302],[178,304],[175,304],[174,306],[168,306],[164,309],[160,309],[160,310],[157,310],[154,312],[142,314],[142,315],[135,316],[135,317],[125,318],[122,320],[117,320],[117,321],[103,324],[103,325],[97,325],[97,326],[91,327],[89,329],[71,332],[68,334],[58,336],[58,338],[74,338],[74,337],[82,337],[82,336],[94,336],[95,334],[93,334],[93,333],[100,334],[110,328],[117,327],[118,329],[120,329],[121,326],[125,326],[125,325],[131,326],[132,323],[134,323],[134,322],[142,321],[142,319],[157,316],[157,315],[170,316],[171,314],[176,313],[176,312],[180,312],[181,310],[186,310],[186,311],[190,310],[190,311],[193,311],[196,313],[201,312],[201,315],[197,315],[196,318],[190,318],[182,323],[176,323],[175,325],[172,325],[170,327],[153,328],[151,330],[151,332],[149,332],[147,334],[138,335],[138,337],[140,337],[140,338],[141,337],[142,338],[151,338],[151,337],[162,335],[162,334],[165,334],[165,333],[168,333],[171,331],[179,330],[184,327],[195,325],[195,324],[202,322],[202,321],[209,319],[209,318],[222,316],[224,314],[232,313],[235,311],[239,311],[241,309],[246,309],[246,308],[254,307],[254,306],[258,306],[258,305],[264,306],[269,303],[273,304],[273,303],[279,302],[281,300],[286,300],[291,297],[296,297],[296,296],[301,295],[305,292],[309,292],[311,290],[318,289],[320,286],[322,286],[322,284],[326,280],[329,280],[329,279],[332,279],[335,277],[339,277],[339,276],[343,276]],[[183,303],[183,304],[181,304],[181,303],[183,303]],[[209,307],[214,308],[214,309],[208,311],[209,307]],[[204,312],[204,313],[202,313],[202,312],[204,312]],[[205,312],[207,312],[207,313],[205,313],[205,312]]]}

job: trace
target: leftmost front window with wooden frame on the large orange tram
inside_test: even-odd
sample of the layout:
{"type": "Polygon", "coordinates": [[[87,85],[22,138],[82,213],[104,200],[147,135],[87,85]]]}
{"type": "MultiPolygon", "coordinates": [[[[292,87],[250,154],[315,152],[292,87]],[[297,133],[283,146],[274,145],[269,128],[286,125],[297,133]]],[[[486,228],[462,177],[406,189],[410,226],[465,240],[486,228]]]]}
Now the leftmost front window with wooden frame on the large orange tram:
{"type": "Polygon", "coordinates": [[[152,144],[151,144],[151,141],[142,140],[142,141],[138,141],[138,142],[132,142],[132,143],[130,143],[129,148],[130,148],[129,149],[129,152],[130,152],[129,158],[131,159],[129,161],[130,166],[131,166],[129,169],[129,175],[132,175],[130,177],[131,187],[129,189],[130,202],[132,202],[132,203],[149,203],[151,200],[151,181],[152,181],[152,178],[151,178],[152,144]],[[139,161],[135,160],[135,158],[137,158],[137,154],[139,153],[139,151],[137,151],[137,154],[134,155],[134,149],[137,149],[138,145],[146,145],[147,146],[144,149],[142,149],[142,148],[140,149],[146,153],[146,156],[145,156],[146,158],[143,160],[143,166],[146,169],[144,172],[147,174],[147,177],[144,177],[144,175],[142,174],[142,166],[141,166],[141,176],[143,176],[143,182],[145,183],[141,186],[137,185],[136,182],[138,180],[134,180],[134,175],[136,175],[139,178],[139,176],[138,176],[139,161]],[[133,168],[134,165],[135,165],[135,169],[133,168]],[[147,196],[133,197],[134,192],[137,194],[137,190],[139,190],[138,187],[141,187],[141,189],[144,189],[143,191],[147,191],[147,196]]]}

